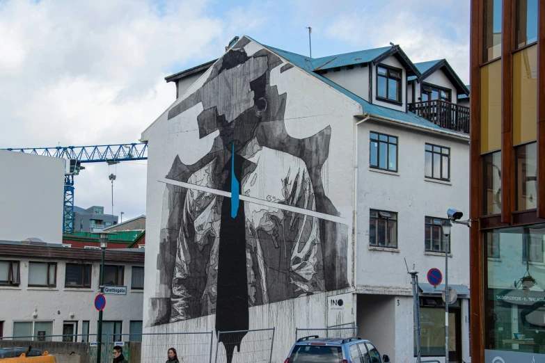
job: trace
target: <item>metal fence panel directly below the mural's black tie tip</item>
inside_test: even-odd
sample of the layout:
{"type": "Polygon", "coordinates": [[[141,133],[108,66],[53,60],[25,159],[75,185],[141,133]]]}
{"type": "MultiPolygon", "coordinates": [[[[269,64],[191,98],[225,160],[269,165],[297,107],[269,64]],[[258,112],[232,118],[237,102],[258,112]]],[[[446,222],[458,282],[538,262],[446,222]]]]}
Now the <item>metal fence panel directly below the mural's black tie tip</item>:
{"type": "Polygon", "coordinates": [[[274,328],[218,332],[216,363],[271,362],[274,328]]]}

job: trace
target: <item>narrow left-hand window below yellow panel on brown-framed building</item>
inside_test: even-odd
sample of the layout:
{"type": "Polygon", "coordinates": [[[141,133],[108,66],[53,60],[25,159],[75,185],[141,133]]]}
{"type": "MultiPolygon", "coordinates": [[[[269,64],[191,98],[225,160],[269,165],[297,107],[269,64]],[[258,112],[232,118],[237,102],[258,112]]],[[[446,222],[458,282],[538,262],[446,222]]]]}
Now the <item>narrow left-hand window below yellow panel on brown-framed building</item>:
{"type": "Polygon", "coordinates": [[[483,214],[501,213],[501,152],[482,156],[483,214]]]}

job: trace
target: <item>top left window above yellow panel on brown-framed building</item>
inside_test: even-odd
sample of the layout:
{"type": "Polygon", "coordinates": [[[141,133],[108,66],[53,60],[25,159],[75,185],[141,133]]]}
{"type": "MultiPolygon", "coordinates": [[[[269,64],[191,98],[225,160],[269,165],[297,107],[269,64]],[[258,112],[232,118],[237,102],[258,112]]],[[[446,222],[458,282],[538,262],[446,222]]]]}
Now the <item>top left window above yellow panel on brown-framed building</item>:
{"type": "Polygon", "coordinates": [[[488,62],[501,56],[502,0],[483,1],[484,39],[482,45],[483,60],[488,62]]]}

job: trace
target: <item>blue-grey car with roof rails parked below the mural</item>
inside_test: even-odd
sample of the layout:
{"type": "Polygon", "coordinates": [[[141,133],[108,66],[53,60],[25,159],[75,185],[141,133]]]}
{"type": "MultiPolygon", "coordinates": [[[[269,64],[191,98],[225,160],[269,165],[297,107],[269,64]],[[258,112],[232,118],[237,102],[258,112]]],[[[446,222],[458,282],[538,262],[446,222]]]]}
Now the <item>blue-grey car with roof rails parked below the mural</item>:
{"type": "Polygon", "coordinates": [[[377,348],[360,337],[320,338],[317,335],[297,339],[284,363],[388,363],[377,348]]]}

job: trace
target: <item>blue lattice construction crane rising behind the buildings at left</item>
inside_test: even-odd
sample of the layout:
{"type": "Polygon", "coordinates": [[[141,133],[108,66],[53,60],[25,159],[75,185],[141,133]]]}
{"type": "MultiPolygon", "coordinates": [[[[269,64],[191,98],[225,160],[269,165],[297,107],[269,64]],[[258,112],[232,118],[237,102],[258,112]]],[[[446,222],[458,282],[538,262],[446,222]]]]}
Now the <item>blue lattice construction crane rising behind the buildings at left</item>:
{"type": "Polygon", "coordinates": [[[81,163],[117,164],[120,161],[148,159],[148,144],[132,143],[95,146],[29,147],[0,149],[65,159],[63,233],[74,232],[74,175],[85,169],[81,163]]]}

